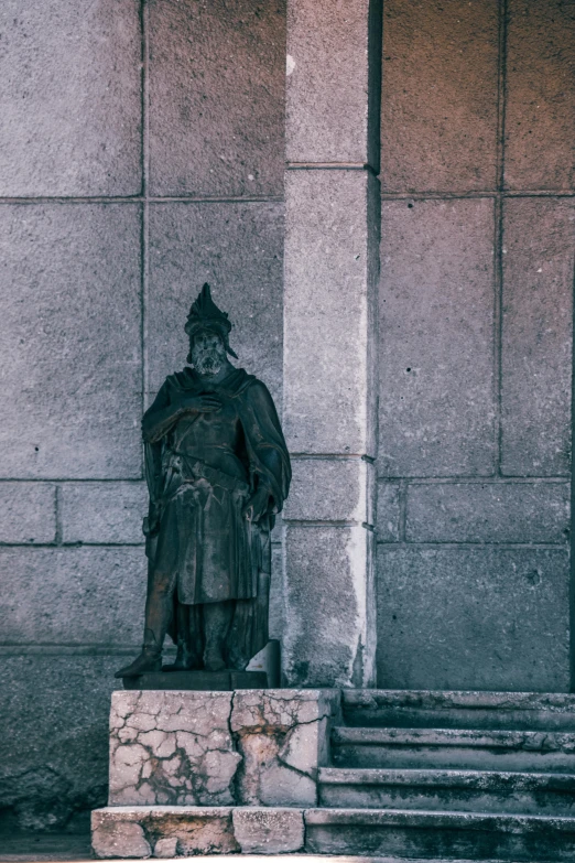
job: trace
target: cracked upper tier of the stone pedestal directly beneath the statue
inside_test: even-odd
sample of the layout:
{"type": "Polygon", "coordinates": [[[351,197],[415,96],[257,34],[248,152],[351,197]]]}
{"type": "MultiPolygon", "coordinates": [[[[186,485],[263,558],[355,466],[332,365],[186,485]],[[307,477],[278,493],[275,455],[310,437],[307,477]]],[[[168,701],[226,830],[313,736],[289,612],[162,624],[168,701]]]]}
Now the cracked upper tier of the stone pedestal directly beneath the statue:
{"type": "Polygon", "coordinates": [[[339,705],[336,690],[117,690],[108,803],[315,806],[339,705]]]}

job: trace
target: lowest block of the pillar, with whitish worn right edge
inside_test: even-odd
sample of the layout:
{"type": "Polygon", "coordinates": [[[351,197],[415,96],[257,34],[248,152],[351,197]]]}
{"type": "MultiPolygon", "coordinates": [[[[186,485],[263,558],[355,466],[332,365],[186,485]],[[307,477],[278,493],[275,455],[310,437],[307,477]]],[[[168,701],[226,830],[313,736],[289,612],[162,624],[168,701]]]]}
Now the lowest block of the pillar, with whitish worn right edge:
{"type": "Polygon", "coordinates": [[[361,526],[288,527],[282,666],[290,686],[370,684],[372,544],[361,526]]]}

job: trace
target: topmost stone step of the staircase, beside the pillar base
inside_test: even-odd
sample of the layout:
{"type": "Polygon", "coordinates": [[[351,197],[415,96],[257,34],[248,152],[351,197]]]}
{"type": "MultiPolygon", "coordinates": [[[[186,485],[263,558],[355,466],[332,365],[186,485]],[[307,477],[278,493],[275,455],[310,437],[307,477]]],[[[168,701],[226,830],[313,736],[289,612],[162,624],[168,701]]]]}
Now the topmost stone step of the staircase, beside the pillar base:
{"type": "Polygon", "coordinates": [[[346,724],[362,727],[575,732],[575,695],[564,693],[347,689],[341,705],[346,724]]]}

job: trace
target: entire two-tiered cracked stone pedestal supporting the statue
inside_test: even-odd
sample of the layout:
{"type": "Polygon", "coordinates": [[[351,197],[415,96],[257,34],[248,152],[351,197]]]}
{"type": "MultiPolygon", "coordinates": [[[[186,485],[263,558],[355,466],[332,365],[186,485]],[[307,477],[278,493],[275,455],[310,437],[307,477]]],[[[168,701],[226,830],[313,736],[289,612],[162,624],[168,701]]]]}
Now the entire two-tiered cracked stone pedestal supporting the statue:
{"type": "Polygon", "coordinates": [[[186,854],[237,851],[235,835],[242,849],[261,840],[272,853],[282,850],[279,818],[293,845],[303,820],[278,812],[316,806],[339,701],[335,690],[113,692],[109,806],[93,816],[95,853],[170,856],[175,835],[186,854]],[[234,815],[235,832],[234,807],[250,807],[234,815]],[[261,807],[274,809],[257,815],[261,807]]]}

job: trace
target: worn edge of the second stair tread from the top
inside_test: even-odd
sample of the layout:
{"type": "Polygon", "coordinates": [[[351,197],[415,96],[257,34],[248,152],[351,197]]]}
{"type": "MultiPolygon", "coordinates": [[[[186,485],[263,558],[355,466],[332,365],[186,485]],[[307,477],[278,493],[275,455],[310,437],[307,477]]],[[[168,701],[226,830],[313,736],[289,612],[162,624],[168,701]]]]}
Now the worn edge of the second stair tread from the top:
{"type": "Polygon", "coordinates": [[[465,746],[575,753],[575,733],[564,731],[336,726],[332,732],[332,742],[356,746],[465,746]]]}

